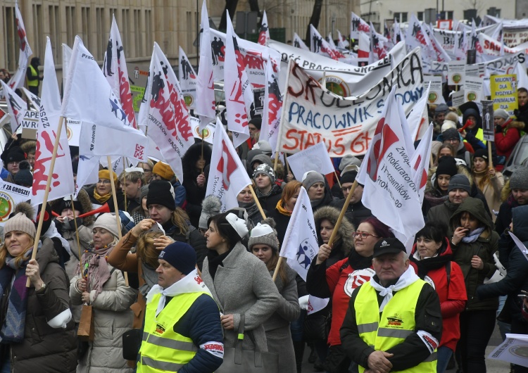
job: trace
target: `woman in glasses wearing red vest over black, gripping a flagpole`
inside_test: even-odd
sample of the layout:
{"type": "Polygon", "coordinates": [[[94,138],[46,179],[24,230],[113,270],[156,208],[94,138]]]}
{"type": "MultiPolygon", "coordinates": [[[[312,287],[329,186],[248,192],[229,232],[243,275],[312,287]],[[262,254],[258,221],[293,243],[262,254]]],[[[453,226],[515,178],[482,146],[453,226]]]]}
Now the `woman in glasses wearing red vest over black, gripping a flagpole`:
{"type": "MultiPolygon", "coordinates": [[[[323,210],[321,209],[318,213],[321,211],[323,210]]],[[[339,216],[339,212],[337,214],[339,216]]],[[[389,227],[375,217],[363,220],[358,225],[357,232],[353,232],[353,227],[344,219],[341,221],[339,232],[341,234],[338,234],[337,244],[343,239],[351,241],[350,236],[353,236],[354,247],[348,257],[328,267],[325,262],[337,245],[330,248],[327,243],[322,244],[306,277],[306,286],[311,295],[332,300],[332,324],[327,341],[330,347],[325,361],[325,368],[330,373],[348,372],[351,360],[341,347],[339,329],[343,324],[353,290],[375,274],[372,270],[374,245],[379,239],[392,236],[389,227]],[[344,222],[345,225],[343,225],[344,222]],[[341,236],[343,234],[346,236],[341,236]]]]}

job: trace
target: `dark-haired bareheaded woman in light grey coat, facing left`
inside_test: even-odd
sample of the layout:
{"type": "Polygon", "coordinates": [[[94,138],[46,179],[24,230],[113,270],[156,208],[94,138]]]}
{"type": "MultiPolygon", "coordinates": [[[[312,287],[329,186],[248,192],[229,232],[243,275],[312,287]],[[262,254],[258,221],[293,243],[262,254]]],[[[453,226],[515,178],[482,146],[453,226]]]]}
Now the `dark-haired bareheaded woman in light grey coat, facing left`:
{"type": "MultiPolygon", "coordinates": [[[[277,310],[281,296],[264,263],[241,244],[247,233],[246,222],[233,213],[209,218],[206,232],[209,253],[203,260],[202,279],[222,312],[225,348],[235,346],[244,315],[245,334],[251,331],[256,348],[267,352],[263,324],[277,310]]],[[[251,338],[244,338],[243,348],[255,349],[251,338]]]]}

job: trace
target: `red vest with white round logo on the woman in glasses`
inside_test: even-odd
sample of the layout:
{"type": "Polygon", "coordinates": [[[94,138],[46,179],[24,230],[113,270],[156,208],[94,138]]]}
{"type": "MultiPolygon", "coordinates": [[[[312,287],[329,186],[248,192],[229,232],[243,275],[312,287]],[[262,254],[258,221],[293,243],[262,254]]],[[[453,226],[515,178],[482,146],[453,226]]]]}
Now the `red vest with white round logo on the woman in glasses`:
{"type": "Polygon", "coordinates": [[[332,293],[332,326],[328,335],[328,344],[330,346],[340,345],[341,338],[339,329],[345,319],[346,310],[352,291],[361,284],[370,281],[370,277],[375,272],[372,267],[364,270],[354,270],[350,265],[341,270],[341,267],[348,262],[348,258],[339,260],[339,262],[327,268],[327,284],[332,293]]]}

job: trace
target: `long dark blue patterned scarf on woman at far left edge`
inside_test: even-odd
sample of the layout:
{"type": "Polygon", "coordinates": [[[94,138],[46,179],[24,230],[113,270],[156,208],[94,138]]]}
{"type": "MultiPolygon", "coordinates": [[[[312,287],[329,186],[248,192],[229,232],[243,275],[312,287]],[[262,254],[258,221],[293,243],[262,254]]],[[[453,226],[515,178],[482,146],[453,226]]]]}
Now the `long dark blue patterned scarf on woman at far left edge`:
{"type": "Polygon", "coordinates": [[[6,265],[0,270],[0,295],[9,294],[6,314],[0,315],[4,317],[0,330],[0,341],[3,343],[21,343],[24,340],[27,291],[29,290],[25,286],[27,281],[25,267],[30,261],[32,251],[33,249],[27,251],[23,262],[18,267],[15,265],[15,258],[8,254],[6,265]]]}

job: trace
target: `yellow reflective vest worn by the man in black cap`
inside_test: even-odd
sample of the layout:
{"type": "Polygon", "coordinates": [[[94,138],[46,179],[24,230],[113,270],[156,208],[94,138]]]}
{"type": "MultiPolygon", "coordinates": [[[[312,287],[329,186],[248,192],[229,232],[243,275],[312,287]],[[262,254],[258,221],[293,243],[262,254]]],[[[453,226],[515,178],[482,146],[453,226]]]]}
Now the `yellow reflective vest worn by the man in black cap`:
{"type": "MultiPolygon", "coordinates": [[[[365,282],[360,287],[354,308],[360,338],[375,350],[386,351],[402,343],[415,331],[415,310],[422,287],[427,283],[418,279],[404,289],[394,293],[379,316],[377,293],[365,282]]],[[[363,373],[364,367],[359,367],[363,373]]],[[[424,362],[402,372],[436,373],[436,350],[424,362]]]]}

